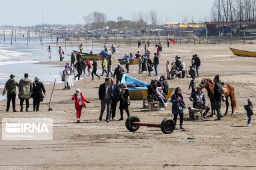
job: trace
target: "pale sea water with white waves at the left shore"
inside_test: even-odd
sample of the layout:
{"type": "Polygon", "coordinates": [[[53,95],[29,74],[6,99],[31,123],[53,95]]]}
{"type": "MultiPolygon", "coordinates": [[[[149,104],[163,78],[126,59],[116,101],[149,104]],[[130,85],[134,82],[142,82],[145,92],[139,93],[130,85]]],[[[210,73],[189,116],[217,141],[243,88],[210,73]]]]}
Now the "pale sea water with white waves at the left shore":
{"type": "MultiPolygon", "coordinates": [[[[69,42],[70,43],[70,42],[69,42]]],[[[64,60],[70,62],[71,52],[78,50],[78,42],[73,43],[74,46],[61,46],[65,52],[64,60]],[[77,43],[77,45],[75,45],[77,43]]],[[[101,51],[97,47],[84,47],[83,52],[88,52],[93,48],[95,54],[101,51]]],[[[41,42],[39,37],[33,37],[28,42],[27,37],[13,38],[11,45],[11,37],[0,37],[0,88],[5,86],[5,82],[11,74],[15,75],[15,80],[19,82],[25,73],[29,74],[29,79],[34,80],[35,76],[40,78],[43,84],[53,83],[56,79],[57,83],[61,82],[61,72],[64,66],[53,64],[39,64],[39,62],[56,62],[59,61],[59,46],[53,43],[50,38],[43,39],[41,42]],[[51,58],[47,48],[51,45],[51,58]]],[[[98,70],[101,71],[100,69],[98,70]]],[[[2,92],[1,92],[2,93],[2,92]]],[[[0,100],[6,96],[0,96],[0,100]]]]}

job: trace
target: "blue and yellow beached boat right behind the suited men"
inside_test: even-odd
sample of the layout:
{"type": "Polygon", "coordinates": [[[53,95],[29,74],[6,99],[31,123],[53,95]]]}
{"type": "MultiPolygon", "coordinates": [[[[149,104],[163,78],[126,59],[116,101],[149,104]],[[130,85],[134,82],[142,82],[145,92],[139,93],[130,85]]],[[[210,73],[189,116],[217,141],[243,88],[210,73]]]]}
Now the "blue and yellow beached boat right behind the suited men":
{"type": "MultiPolygon", "coordinates": [[[[130,100],[143,100],[143,97],[147,98],[147,86],[149,83],[128,76],[127,74],[123,74],[121,82],[127,84],[127,88],[130,90],[130,100]]],[[[171,97],[173,90],[174,88],[169,88],[168,99],[171,97]]]]}

